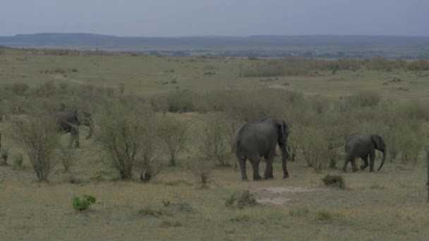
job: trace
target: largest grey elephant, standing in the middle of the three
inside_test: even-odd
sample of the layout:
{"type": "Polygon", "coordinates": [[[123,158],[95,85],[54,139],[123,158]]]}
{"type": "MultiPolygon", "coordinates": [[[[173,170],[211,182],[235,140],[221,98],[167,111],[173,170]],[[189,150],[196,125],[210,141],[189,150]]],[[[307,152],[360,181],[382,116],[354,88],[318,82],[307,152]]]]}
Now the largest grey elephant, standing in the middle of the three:
{"type": "Polygon", "coordinates": [[[288,159],[287,137],[289,127],[283,119],[265,118],[258,123],[244,124],[233,140],[233,150],[240,163],[241,179],[248,180],[246,174],[246,159],[252,163],[253,180],[261,180],[259,175],[260,157],[264,156],[267,166],[265,167],[264,179],[274,178],[272,175],[272,161],[275,156],[276,145],[279,144],[282,152],[282,166],[284,178],[289,177],[286,163],[288,159]]]}

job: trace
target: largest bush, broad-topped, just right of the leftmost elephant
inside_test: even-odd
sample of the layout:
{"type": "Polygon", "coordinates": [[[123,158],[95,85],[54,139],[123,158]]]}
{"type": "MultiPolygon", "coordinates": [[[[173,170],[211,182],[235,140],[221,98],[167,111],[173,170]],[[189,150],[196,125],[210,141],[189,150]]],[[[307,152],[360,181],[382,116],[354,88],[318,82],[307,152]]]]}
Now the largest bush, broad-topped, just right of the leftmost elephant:
{"type": "Polygon", "coordinates": [[[150,128],[152,110],[116,104],[99,116],[95,140],[108,155],[108,161],[121,179],[133,177],[133,166],[143,153],[143,139],[150,128]]]}

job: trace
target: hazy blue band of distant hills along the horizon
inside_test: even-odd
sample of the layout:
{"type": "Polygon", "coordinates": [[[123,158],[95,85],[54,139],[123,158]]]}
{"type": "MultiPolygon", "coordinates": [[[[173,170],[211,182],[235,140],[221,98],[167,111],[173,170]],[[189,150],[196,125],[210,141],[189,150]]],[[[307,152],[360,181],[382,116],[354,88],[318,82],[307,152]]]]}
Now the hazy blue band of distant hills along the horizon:
{"type": "Polygon", "coordinates": [[[0,37],[8,47],[100,49],[174,56],[302,56],[315,58],[429,58],[429,37],[248,36],[117,37],[87,33],[40,33],[0,37]]]}

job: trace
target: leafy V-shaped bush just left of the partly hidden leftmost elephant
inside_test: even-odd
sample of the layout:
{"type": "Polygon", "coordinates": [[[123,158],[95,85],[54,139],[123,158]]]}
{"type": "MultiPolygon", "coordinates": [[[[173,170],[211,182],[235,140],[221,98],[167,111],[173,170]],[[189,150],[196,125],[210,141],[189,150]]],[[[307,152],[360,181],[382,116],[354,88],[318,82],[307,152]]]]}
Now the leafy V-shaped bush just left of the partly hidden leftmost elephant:
{"type": "Polygon", "coordinates": [[[52,120],[40,114],[12,121],[13,137],[28,155],[40,181],[48,180],[54,166],[54,150],[59,143],[57,130],[52,120]]]}

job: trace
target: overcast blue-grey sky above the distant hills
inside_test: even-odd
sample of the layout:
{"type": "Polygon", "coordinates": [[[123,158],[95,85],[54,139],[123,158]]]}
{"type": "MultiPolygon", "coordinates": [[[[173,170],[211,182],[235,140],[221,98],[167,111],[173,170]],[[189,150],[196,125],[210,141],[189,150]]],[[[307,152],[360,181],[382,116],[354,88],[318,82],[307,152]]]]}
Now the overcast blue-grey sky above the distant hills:
{"type": "Polygon", "coordinates": [[[429,0],[1,0],[0,35],[429,35],[429,0]]]}

